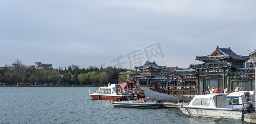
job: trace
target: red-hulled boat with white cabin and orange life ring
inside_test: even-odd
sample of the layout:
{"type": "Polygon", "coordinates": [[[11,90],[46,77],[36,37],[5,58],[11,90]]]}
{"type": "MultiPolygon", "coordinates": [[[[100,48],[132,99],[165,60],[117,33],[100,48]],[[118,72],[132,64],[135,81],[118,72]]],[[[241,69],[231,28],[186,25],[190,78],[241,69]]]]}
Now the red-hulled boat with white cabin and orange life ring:
{"type": "Polygon", "coordinates": [[[89,90],[89,95],[94,100],[127,100],[129,95],[120,84],[108,84],[106,87],[99,87],[96,93],[89,90]]]}

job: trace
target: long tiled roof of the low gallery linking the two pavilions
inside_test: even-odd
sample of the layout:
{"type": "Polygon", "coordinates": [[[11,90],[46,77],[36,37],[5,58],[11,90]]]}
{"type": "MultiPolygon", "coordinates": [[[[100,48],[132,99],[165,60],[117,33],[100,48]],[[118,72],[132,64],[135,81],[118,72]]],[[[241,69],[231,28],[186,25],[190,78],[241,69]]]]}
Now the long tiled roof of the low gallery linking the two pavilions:
{"type": "Polygon", "coordinates": [[[171,72],[161,72],[161,75],[163,75],[163,76],[192,76],[195,74],[197,74],[197,72],[194,69],[174,70],[171,72]]]}

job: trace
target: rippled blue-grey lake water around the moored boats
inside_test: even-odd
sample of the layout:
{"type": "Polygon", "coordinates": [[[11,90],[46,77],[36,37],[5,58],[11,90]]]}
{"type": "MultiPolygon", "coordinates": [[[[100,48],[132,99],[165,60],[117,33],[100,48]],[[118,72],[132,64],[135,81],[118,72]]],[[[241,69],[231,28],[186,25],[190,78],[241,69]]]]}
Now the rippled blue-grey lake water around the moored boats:
{"type": "Polygon", "coordinates": [[[113,107],[91,100],[97,87],[0,87],[0,124],[243,124],[239,119],[190,117],[180,109],[113,107]]]}

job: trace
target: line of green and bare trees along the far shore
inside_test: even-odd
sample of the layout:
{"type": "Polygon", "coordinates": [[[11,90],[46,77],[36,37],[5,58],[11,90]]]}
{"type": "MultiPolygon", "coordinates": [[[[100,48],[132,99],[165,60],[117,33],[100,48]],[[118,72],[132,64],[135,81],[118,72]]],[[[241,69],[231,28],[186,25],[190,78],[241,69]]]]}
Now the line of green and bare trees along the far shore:
{"type": "Polygon", "coordinates": [[[103,85],[117,83],[119,72],[126,69],[116,67],[95,66],[80,68],[78,65],[70,65],[68,69],[58,67],[56,69],[36,69],[35,66],[25,66],[21,60],[15,60],[10,65],[0,69],[0,82],[5,85],[45,84],[45,85],[103,85]]]}

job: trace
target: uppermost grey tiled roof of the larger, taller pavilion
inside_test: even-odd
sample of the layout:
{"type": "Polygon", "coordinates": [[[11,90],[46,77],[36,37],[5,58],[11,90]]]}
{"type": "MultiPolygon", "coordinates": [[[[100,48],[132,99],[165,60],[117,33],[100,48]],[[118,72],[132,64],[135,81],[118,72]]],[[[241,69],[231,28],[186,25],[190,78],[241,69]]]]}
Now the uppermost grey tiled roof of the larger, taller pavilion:
{"type": "Polygon", "coordinates": [[[242,61],[247,61],[250,59],[250,56],[237,55],[230,48],[219,48],[217,46],[215,51],[212,52],[212,54],[207,55],[207,56],[196,56],[195,59],[200,60],[200,61],[224,60],[227,58],[231,58],[233,60],[242,60],[242,61]],[[219,52],[221,55],[212,56],[215,53],[215,51],[219,52]]]}

